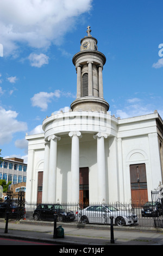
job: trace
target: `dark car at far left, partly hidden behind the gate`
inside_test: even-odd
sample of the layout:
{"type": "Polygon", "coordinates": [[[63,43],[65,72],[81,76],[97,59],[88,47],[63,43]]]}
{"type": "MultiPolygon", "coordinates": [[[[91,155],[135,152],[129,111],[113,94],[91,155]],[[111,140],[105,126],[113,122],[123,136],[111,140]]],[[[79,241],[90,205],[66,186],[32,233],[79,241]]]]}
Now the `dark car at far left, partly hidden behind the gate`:
{"type": "Polygon", "coordinates": [[[9,218],[23,218],[26,214],[24,207],[18,207],[17,204],[11,203],[7,208],[7,202],[0,203],[0,217],[6,218],[7,211],[9,212],[9,218]]]}

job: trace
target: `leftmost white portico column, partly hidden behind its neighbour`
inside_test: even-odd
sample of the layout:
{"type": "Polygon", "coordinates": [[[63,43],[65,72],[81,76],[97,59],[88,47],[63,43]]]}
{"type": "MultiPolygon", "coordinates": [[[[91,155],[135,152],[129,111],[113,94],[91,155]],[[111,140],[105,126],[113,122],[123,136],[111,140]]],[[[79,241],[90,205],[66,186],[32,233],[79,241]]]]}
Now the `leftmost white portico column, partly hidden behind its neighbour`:
{"type": "Polygon", "coordinates": [[[44,166],[43,166],[43,184],[42,184],[42,203],[48,202],[49,152],[50,152],[50,143],[45,142],[45,154],[44,154],[44,166]]]}

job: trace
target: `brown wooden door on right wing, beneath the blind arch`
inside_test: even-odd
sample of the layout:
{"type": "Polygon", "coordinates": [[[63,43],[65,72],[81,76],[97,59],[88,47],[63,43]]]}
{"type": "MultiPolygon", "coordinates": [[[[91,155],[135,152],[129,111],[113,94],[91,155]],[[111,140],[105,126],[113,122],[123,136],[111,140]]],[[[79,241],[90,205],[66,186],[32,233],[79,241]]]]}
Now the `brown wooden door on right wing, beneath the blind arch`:
{"type": "Polygon", "coordinates": [[[146,164],[130,165],[131,202],[145,204],[148,201],[146,164]]]}

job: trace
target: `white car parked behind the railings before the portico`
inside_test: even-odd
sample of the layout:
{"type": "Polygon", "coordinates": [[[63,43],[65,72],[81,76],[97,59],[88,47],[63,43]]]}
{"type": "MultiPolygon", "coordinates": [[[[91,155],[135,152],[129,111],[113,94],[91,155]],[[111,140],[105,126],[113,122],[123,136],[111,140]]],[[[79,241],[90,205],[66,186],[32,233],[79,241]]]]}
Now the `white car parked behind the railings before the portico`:
{"type": "Polygon", "coordinates": [[[137,224],[137,216],[126,210],[118,210],[111,205],[92,205],[78,212],[78,219],[82,223],[110,224],[110,217],[118,226],[137,224]]]}

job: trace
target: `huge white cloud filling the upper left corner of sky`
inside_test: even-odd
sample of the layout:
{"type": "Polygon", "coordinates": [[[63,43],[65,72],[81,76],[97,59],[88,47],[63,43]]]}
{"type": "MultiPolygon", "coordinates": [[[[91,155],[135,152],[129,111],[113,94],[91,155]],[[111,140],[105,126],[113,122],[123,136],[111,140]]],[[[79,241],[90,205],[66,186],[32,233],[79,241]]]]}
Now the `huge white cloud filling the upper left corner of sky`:
{"type": "Polygon", "coordinates": [[[34,48],[59,44],[75,28],[76,17],[91,9],[92,0],[1,0],[0,38],[3,55],[24,43],[34,48]]]}

